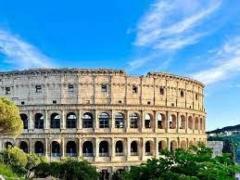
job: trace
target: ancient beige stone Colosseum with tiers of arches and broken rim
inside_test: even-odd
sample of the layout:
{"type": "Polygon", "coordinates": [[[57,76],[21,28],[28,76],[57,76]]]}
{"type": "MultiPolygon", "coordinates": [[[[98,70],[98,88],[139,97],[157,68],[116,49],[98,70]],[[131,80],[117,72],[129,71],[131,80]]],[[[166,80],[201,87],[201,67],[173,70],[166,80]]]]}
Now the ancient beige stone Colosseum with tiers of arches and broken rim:
{"type": "Polygon", "coordinates": [[[102,173],[121,171],[206,142],[204,85],[167,73],[110,69],[30,69],[0,73],[0,96],[20,108],[18,146],[50,161],[83,158],[102,173]]]}

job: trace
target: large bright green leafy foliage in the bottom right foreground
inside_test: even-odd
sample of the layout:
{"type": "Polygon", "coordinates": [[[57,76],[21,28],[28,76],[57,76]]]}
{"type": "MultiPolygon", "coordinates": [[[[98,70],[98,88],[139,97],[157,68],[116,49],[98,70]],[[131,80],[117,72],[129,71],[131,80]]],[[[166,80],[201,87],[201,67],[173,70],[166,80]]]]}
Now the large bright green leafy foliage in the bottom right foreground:
{"type": "Polygon", "coordinates": [[[228,155],[212,157],[211,149],[200,144],[175,153],[163,151],[159,159],[132,167],[116,179],[124,180],[231,180],[240,172],[228,155]]]}

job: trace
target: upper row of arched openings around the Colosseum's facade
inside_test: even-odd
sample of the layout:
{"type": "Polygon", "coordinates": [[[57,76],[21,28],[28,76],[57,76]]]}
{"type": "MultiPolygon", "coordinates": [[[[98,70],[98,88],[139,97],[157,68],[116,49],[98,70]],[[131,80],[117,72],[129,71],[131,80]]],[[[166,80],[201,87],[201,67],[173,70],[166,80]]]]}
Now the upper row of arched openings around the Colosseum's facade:
{"type": "MultiPolygon", "coordinates": [[[[28,116],[26,114],[20,114],[23,121],[24,129],[28,129],[28,116]]],[[[184,115],[181,115],[179,119],[175,114],[171,114],[168,118],[166,115],[159,113],[157,114],[157,128],[165,129],[168,125],[169,129],[176,129],[177,125],[179,129],[200,129],[203,130],[203,119],[195,117],[193,120],[192,116],[189,116],[186,120],[184,115]]],[[[86,112],[82,115],[82,127],[83,128],[93,128],[94,118],[93,114],[86,112]]],[[[98,115],[99,128],[109,128],[110,127],[110,115],[107,112],[102,112],[98,115]]],[[[118,112],[114,115],[115,128],[124,128],[126,126],[126,118],[124,113],[118,112]]],[[[144,116],[144,128],[150,129],[154,127],[154,118],[150,113],[144,116]]],[[[61,116],[58,113],[52,113],[50,116],[50,128],[59,129],[61,125],[61,116]]],[[[131,113],[129,115],[129,127],[139,128],[141,125],[140,115],[138,113],[131,113]]],[[[74,112],[70,112],[66,116],[66,128],[76,128],[77,127],[77,116],[74,112]]],[[[43,129],[44,128],[44,115],[41,113],[36,113],[34,116],[34,128],[43,129]]]]}

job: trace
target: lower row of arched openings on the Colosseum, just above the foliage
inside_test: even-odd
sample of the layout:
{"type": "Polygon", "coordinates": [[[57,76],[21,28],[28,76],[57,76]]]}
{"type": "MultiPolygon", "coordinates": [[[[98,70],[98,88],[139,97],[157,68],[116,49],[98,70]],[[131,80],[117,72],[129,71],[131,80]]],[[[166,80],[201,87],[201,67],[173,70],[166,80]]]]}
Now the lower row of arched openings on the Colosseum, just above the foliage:
{"type": "MultiPolygon", "coordinates": [[[[189,142],[189,145],[194,144],[193,141],[189,142]]],[[[9,146],[13,146],[11,142],[5,143],[5,148],[8,148],[9,146]]],[[[127,154],[126,151],[127,148],[125,148],[126,144],[123,140],[118,140],[115,142],[115,155],[116,156],[124,156],[124,154],[127,154]]],[[[159,141],[157,144],[154,144],[153,141],[149,140],[144,142],[143,150],[145,152],[145,156],[152,156],[154,154],[154,151],[156,150],[154,146],[157,146],[158,152],[161,152],[164,149],[169,149],[170,151],[174,151],[176,148],[187,148],[187,141],[183,140],[179,143],[177,143],[176,140],[172,140],[169,143],[169,147],[167,145],[167,142],[164,140],[159,141]]],[[[19,143],[19,147],[26,153],[29,153],[29,145],[26,141],[21,141],[19,143]]],[[[111,144],[107,140],[102,140],[98,144],[98,154],[100,157],[107,157],[110,156],[110,148],[111,144]]],[[[140,155],[140,152],[142,151],[141,143],[139,141],[132,141],[130,143],[130,149],[129,153],[131,156],[138,156],[140,155]]],[[[96,153],[96,150],[94,149],[94,143],[92,141],[85,141],[82,144],[82,155],[84,157],[93,157],[96,153]]],[[[42,141],[36,141],[34,143],[34,152],[39,155],[43,155],[45,153],[46,149],[44,148],[44,143],[42,141]]],[[[52,141],[50,144],[50,156],[53,157],[60,157],[62,155],[62,148],[61,144],[57,141],[52,141]]],[[[66,155],[71,157],[76,157],[78,153],[78,146],[75,141],[68,141],[66,143],[66,155]]]]}

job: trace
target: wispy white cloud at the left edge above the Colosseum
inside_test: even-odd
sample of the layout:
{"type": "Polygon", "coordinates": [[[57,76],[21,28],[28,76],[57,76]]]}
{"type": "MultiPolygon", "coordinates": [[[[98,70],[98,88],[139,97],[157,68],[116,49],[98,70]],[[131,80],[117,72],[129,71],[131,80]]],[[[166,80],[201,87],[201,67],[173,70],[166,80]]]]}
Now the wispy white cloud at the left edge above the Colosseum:
{"type": "Polygon", "coordinates": [[[53,66],[52,60],[36,47],[3,29],[0,29],[0,54],[5,63],[18,69],[53,66]]]}

